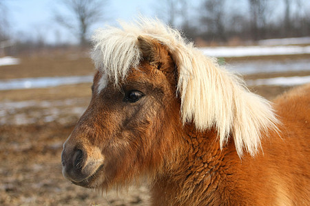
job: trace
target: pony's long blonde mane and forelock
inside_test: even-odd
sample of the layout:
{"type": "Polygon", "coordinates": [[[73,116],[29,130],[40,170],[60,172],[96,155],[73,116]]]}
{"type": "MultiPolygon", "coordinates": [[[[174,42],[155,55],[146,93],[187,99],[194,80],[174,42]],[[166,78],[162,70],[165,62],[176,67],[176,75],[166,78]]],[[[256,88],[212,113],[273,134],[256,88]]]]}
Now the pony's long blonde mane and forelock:
{"type": "Polygon", "coordinates": [[[244,149],[255,155],[261,133],[277,129],[278,120],[269,102],[249,92],[240,78],[220,67],[216,59],[204,56],[178,30],[158,19],[120,24],[121,28],[97,30],[92,37],[94,65],[107,78],[117,83],[131,68],[138,67],[138,36],[156,39],[167,46],[178,68],[183,123],[193,121],[198,130],[216,127],[221,148],[234,137],[239,156],[244,149]]]}

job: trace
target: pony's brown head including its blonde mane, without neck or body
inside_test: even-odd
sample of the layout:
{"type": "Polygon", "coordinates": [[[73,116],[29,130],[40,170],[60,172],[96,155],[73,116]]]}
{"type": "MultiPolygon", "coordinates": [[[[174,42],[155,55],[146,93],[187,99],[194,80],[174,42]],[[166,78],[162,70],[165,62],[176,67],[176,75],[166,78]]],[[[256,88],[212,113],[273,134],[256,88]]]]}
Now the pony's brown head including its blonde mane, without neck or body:
{"type": "Polygon", "coordinates": [[[64,176],[78,185],[164,172],[187,124],[215,128],[221,148],[233,138],[240,156],[255,155],[261,133],[276,128],[267,100],[161,21],[106,27],[92,41],[92,100],[62,154],[64,176]]]}

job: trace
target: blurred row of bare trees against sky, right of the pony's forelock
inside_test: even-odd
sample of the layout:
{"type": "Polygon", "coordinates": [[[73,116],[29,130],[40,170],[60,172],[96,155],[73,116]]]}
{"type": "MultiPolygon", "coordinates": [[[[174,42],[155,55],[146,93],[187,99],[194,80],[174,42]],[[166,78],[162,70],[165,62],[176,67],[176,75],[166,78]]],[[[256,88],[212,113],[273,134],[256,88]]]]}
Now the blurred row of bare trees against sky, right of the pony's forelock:
{"type": "Polygon", "coordinates": [[[309,0],[197,2],[157,0],[156,5],[160,8],[156,11],[164,21],[181,28],[190,39],[200,37],[222,42],[234,39],[258,41],[262,38],[310,35],[309,0]]]}

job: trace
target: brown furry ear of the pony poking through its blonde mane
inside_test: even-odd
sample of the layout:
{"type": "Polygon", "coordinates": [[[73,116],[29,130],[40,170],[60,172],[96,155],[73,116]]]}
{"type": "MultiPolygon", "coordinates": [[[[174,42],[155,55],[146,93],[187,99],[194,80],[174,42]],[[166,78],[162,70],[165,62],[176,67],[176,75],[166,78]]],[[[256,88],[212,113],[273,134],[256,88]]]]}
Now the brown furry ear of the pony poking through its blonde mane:
{"type": "Polygon", "coordinates": [[[150,65],[161,69],[168,56],[167,50],[156,40],[138,36],[138,47],[141,50],[143,60],[147,60],[150,65]]]}

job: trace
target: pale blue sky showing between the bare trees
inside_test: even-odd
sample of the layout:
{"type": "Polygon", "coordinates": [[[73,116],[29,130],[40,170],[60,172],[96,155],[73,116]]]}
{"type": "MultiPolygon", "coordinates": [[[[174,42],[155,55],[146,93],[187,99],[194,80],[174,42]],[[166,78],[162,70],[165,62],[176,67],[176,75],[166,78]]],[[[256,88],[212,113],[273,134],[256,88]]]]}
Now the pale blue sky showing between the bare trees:
{"type": "MultiPolygon", "coordinates": [[[[10,25],[8,31],[11,37],[23,40],[33,40],[41,37],[48,43],[76,43],[78,41],[76,34],[72,34],[72,32],[53,21],[54,10],[58,8],[65,12],[64,8],[60,7],[59,1],[61,0],[3,0],[8,8],[7,15],[10,25]]],[[[298,1],[303,2],[306,7],[304,10],[310,10],[309,0],[298,1]]],[[[116,25],[118,19],[132,20],[139,14],[149,17],[161,17],[163,11],[160,11],[160,8],[163,8],[165,4],[165,0],[107,0],[107,2],[105,10],[107,19],[96,23],[91,28],[90,33],[95,28],[103,27],[105,24],[116,25]]],[[[187,1],[187,5],[197,14],[200,13],[198,2],[194,0],[187,1]]],[[[228,2],[233,3],[227,7],[230,10],[238,10],[238,7],[241,7],[242,10],[239,10],[239,12],[247,11],[247,0],[228,2]]],[[[273,8],[273,16],[277,16],[277,13],[283,10],[283,0],[274,1],[273,4],[276,2],[278,3],[273,8]]]]}

